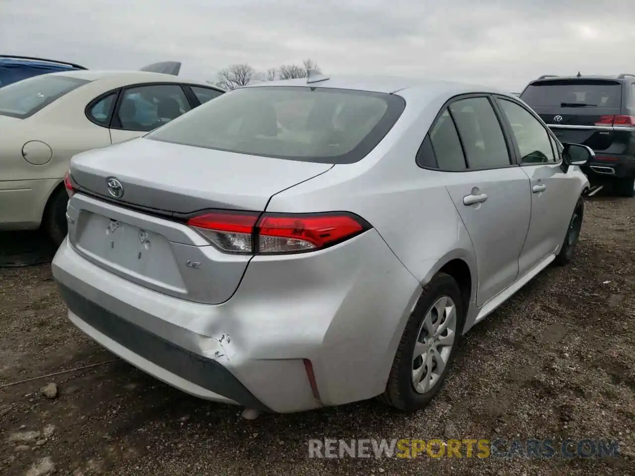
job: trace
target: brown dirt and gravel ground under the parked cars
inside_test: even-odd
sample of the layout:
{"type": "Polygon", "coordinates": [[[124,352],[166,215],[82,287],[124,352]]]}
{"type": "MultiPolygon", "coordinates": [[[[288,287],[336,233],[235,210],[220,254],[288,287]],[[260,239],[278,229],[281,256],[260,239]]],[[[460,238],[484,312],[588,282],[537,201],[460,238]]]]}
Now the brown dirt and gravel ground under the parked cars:
{"type": "MultiPolygon", "coordinates": [[[[241,420],[115,360],[0,387],[0,473],[635,474],[635,199],[587,201],[577,258],[462,343],[415,416],[375,402],[241,420]],[[40,388],[55,383],[49,399],[40,388]],[[311,459],[312,438],[618,439],[608,459],[311,459]]],[[[0,239],[2,239],[0,237],[0,239]]],[[[0,248],[2,245],[0,244],[0,248]]],[[[49,265],[0,269],[0,386],[114,359],[67,321],[49,265]]]]}

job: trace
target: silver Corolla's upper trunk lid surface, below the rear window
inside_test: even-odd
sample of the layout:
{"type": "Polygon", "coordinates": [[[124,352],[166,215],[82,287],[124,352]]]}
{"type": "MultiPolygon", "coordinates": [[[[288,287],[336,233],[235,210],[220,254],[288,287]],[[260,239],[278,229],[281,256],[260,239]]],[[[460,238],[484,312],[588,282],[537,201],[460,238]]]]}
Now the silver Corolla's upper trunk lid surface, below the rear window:
{"type": "Polygon", "coordinates": [[[272,195],[331,167],[137,138],[76,155],[70,173],[80,190],[112,200],[108,180],[116,178],[124,206],[185,215],[206,208],[263,211],[272,195]]]}

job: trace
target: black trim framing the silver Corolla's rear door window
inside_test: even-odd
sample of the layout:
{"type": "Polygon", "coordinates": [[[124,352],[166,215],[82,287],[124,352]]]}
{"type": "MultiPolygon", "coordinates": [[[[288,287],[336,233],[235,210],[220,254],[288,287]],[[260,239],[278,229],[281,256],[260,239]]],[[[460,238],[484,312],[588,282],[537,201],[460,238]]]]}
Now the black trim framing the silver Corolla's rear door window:
{"type": "MultiPolygon", "coordinates": [[[[431,138],[432,140],[432,138],[431,138]]],[[[434,146],[432,147],[432,150],[434,150],[434,146]]],[[[436,157],[436,151],[434,152],[435,154],[435,161],[437,163],[437,166],[439,165],[439,161],[438,161],[438,157],[436,157]]],[[[506,168],[511,168],[511,167],[518,167],[518,155],[517,155],[517,151],[514,145],[514,142],[512,142],[512,138],[509,136],[509,131],[507,130],[507,122],[504,121],[504,117],[501,116],[501,112],[498,109],[498,104],[494,99],[494,95],[492,93],[467,93],[467,94],[459,94],[459,95],[455,95],[452,96],[450,99],[448,99],[445,103],[443,103],[443,105],[439,108],[439,111],[437,112],[436,116],[434,116],[434,119],[432,120],[430,127],[428,128],[428,130],[425,132],[424,134],[424,138],[422,139],[418,149],[417,149],[417,153],[415,154],[415,163],[417,164],[417,167],[425,169],[425,170],[432,170],[432,171],[436,171],[436,172],[447,172],[447,173],[465,173],[465,172],[478,172],[478,171],[483,171],[483,170],[497,170],[497,169],[506,169],[506,168]],[[450,105],[452,105],[455,102],[458,102],[460,100],[464,100],[464,99],[471,99],[471,98],[486,98],[489,102],[490,102],[490,106],[491,109],[494,112],[494,116],[496,117],[497,121],[498,121],[498,126],[500,126],[500,131],[503,135],[503,139],[505,141],[505,147],[507,147],[507,155],[509,155],[509,165],[498,165],[498,166],[493,166],[493,167],[483,167],[483,168],[469,168],[469,161],[467,160],[467,155],[465,154],[465,147],[463,145],[463,138],[461,137],[460,132],[458,131],[457,128],[457,123],[454,120],[454,117],[452,116],[452,112],[450,110],[450,105]],[[458,135],[458,140],[461,144],[461,149],[463,150],[463,158],[465,161],[465,169],[464,170],[446,170],[443,168],[432,168],[432,167],[426,167],[426,166],[422,166],[418,163],[417,161],[417,155],[419,154],[420,150],[423,147],[423,143],[425,140],[425,137],[428,136],[432,130],[432,128],[434,127],[434,125],[436,124],[436,122],[440,119],[440,117],[443,115],[443,112],[445,110],[448,110],[448,114],[450,115],[450,119],[452,120],[452,123],[454,124],[454,127],[457,131],[457,135],[458,135]]]]}

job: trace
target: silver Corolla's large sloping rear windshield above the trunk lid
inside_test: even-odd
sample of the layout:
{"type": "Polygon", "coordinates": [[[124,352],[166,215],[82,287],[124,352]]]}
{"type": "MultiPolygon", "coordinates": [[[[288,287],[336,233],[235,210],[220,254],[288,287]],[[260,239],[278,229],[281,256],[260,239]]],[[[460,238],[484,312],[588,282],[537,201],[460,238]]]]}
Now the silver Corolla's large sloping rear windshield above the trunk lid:
{"type": "Polygon", "coordinates": [[[241,88],[146,138],[239,154],[349,164],[370,152],[405,107],[385,93],[303,86],[241,88]]]}

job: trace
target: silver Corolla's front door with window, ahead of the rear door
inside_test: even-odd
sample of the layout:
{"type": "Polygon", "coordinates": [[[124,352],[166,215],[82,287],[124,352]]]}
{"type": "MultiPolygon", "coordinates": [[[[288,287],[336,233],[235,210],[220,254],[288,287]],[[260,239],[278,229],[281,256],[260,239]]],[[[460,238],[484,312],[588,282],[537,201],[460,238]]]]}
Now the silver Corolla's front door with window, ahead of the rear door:
{"type": "Polygon", "coordinates": [[[510,98],[498,97],[497,103],[511,129],[521,169],[530,178],[531,223],[518,260],[519,275],[524,275],[563,243],[579,181],[563,172],[559,145],[530,110],[510,98]]]}

